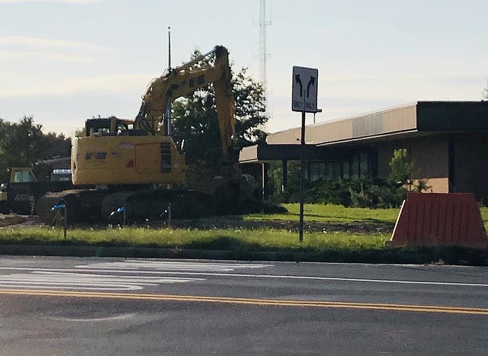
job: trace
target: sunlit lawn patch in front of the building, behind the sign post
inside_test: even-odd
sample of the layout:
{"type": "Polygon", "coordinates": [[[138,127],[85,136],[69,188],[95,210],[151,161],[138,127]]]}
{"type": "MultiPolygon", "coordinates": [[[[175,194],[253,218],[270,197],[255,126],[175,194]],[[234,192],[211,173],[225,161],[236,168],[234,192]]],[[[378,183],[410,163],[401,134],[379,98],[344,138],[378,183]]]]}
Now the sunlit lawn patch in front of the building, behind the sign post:
{"type": "MultiPolygon", "coordinates": [[[[299,204],[283,204],[285,214],[249,214],[244,220],[291,220],[299,219],[299,204]]],[[[373,223],[394,223],[399,209],[346,208],[342,205],[305,204],[304,219],[331,223],[351,223],[354,221],[373,223]]]]}

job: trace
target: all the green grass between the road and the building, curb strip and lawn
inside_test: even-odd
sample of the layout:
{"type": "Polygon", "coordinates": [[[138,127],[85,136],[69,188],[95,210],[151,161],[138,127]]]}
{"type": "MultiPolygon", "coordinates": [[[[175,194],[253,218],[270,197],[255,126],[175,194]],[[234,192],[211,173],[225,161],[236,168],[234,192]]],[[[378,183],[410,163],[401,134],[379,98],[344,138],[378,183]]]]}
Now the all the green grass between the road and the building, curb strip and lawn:
{"type": "MultiPolygon", "coordinates": [[[[243,220],[298,221],[298,204],[284,204],[286,214],[250,214],[243,220]]],[[[481,209],[485,224],[488,208],[481,209]]],[[[305,221],[341,223],[393,224],[398,209],[345,208],[337,205],[305,205],[305,221]]],[[[235,217],[233,217],[235,218],[235,217]]],[[[226,250],[232,259],[261,259],[259,252],[274,252],[274,259],[283,261],[362,262],[362,263],[447,263],[464,261],[485,265],[488,251],[459,247],[393,247],[384,246],[389,234],[353,232],[305,233],[298,241],[296,232],[271,228],[245,229],[72,229],[68,237],[63,231],[47,227],[0,229],[0,245],[63,245],[95,247],[150,247],[182,250],[226,250]],[[306,253],[293,255],[293,253],[306,253]]],[[[1,253],[1,248],[0,248],[1,253]]],[[[158,257],[157,254],[138,257],[158,257]]],[[[70,252],[68,252],[70,254],[70,252]]],[[[76,253],[74,253],[76,255],[76,253]]],[[[228,256],[228,255],[226,255],[228,256]]],[[[264,257],[265,258],[265,257],[264,257]]]]}

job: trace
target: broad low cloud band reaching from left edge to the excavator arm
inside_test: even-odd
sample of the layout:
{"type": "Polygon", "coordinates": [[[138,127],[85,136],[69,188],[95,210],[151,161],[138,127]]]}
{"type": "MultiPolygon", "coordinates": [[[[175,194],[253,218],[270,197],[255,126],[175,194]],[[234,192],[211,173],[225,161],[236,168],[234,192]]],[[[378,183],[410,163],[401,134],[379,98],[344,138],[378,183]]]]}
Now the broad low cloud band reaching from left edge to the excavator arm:
{"type": "MultiPolygon", "coordinates": [[[[28,77],[27,77],[28,78],[28,77]]],[[[0,73],[0,97],[33,95],[72,95],[76,93],[120,94],[136,91],[142,94],[153,75],[144,73],[112,74],[52,81],[48,78],[28,81],[25,75],[0,73]]]]}

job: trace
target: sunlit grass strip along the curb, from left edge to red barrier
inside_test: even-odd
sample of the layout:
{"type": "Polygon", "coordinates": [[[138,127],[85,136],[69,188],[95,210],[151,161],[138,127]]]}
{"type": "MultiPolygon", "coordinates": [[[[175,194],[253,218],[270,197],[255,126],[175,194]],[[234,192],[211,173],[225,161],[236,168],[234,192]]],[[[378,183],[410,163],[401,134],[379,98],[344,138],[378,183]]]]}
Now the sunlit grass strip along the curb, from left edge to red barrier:
{"type": "Polygon", "coordinates": [[[324,249],[378,249],[388,236],[375,234],[312,233],[303,243],[296,233],[274,229],[185,230],[124,228],[75,229],[63,232],[50,228],[0,230],[0,244],[53,244],[245,251],[321,251],[324,249]]]}

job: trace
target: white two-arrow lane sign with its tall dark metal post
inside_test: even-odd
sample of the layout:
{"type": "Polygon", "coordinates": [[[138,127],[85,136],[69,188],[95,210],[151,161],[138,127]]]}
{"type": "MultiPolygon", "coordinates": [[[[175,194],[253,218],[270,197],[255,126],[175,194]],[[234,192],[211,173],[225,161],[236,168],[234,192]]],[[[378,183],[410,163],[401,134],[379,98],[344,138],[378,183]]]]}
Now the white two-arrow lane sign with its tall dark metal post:
{"type": "Polygon", "coordinates": [[[317,110],[317,86],[319,70],[316,68],[293,67],[291,86],[291,110],[302,113],[302,130],[300,134],[300,222],[298,238],[303,241],[303,190],[305,179],[305,113],[317,110]]]}

